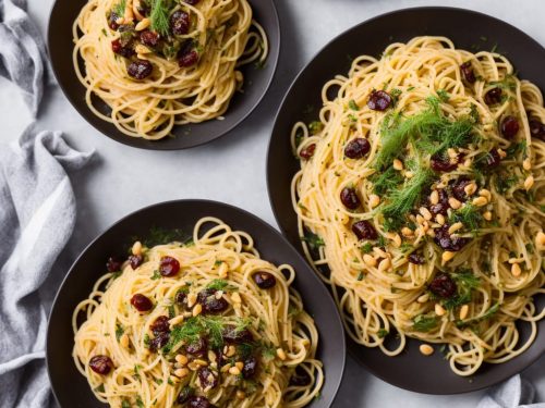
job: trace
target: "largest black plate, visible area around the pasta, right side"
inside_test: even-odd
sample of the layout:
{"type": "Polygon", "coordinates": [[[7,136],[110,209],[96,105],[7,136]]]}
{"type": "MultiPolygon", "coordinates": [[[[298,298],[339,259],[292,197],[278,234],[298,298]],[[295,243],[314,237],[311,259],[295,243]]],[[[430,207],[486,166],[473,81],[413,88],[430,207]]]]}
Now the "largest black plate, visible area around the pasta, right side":
{"type": "MultiPolygon", "coordinates": [[[[542,46],[513,26],[473,11],[451,8],[400,10],[368,20],[340,35],[318,52],[292,84],[278,111],[269,145],[267,183],[270,203],[282,232],[301,252],[290,198],[290,183],[299,170],[290,147],[293,124],[316,120],[322,107],[322,87],[336,74],[348,72],[348,55],[378,55],[392,41],[405,41],[422,35],[446,36],[458,48],[469,50],[497,46],[499,52],[514,64],[521,78],[530,79],[545,90],[545,50],[542,46]]],[[[538,336],[529,350],[502,364],[484,364],[470,379],[452,373],[440,353],[424,358],[416,341],[409,341],[407,350],[392,358],[379,349],[354,343],[349,344],[349,350],[372,373],[402,388],[427,394],[464,393],[493,385],[535,361],[545,350],[545,320],[538,326],[538,336]]],[[[523,337],[526,336],[528,327],[521,329],[523,337]]]]}

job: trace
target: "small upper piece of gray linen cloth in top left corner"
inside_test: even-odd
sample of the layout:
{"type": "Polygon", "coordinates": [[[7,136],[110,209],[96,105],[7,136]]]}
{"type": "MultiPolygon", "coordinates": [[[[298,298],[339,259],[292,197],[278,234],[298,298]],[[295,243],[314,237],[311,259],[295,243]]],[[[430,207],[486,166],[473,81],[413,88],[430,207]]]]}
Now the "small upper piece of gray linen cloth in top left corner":
{"type": "Polygon", "coordinates": [[[0,0],[0,75],[21,88],[36,118],[49,65],[44,40],[25,10],[26,0],[0,0]]]}

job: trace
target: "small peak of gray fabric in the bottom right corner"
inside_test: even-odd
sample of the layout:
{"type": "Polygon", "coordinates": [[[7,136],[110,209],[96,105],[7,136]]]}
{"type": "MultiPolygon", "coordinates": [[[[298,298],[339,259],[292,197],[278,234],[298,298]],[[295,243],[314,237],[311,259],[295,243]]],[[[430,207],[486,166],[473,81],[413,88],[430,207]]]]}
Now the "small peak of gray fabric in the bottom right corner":
{"type": "Polygon", "coordinates": [[[507,380],[495,386],[481,399],[477,408],[545,408],[545,404],[532,404],[535,399],[535,390],[520,375],[507,380]]]}

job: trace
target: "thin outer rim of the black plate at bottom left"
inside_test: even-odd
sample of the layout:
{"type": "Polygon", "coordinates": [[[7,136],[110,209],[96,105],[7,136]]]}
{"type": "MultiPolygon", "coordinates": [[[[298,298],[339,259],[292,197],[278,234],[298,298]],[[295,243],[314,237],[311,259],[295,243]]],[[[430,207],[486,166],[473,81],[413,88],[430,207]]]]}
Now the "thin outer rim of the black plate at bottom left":
{"type": "MultiPolygon", "coordinates": [[[[225,208],[225,209],[227,209],[229,211],[232,211],[234,213],[239,213],[240,215],[242,215],[244,218],[251,219],[253,222],[256,222],[263,228],[268,230],[270,233],[272,233],[272,235],[275,236],[275,239],[278,239],[278,240],[282,242],[287,246],[287,248],[289,248],[289,250],[293,254],[293,256],[296,257],[296,258],[299,258],[299,260],[301,261],[301,263],[307,267],[307,273],[308,273],[308,275],[314,276],[313,279],[315,279],[316,283],[319,284],[319,285],[322,285],[325,290],[328,290],[327,287],[324,285],[324,283],[319,280],[319,277],[314,274],[314,271],[308,265],[308,263],[306,262],[306,260],[304,259],[304,257],[296,250],[296,248],[293,245],[291,245],[291,243],[288,240],[288,238],[286,238],[286,236],[283,236],[283,234],[281,234],[277,228],[275,228],[272,225],[270,225],[267,221],[263,220],[262,218],[253,214],[252,212],[250,212],[250,211],[247,211],[245,209],[242,209],[240,207],[237,207],[237,206],[233,206],[233,205],[230,205],[230,203],[227,203],[227,202],[217,201],[217,200],[198,199],[198,198],[184,198],[184,199],[173,199],[173,200],[167,200],[167,201],[159,201],[159,202],[150,203],[150,205],[147,205],[145,207],[138,208],[138,209],[136,209],[134,211],[131,211],[131,212],[124,214],[123,217],[121,217],[120,219],[116,220],[113,223],[109,224],[107,227],[102,228],[101,232],[99,232],[77,254],[77,257],[70,264],[70,268],[68,269],[66,273],[64,274],[64,277],[62,279],[61,284],[58,286],[57,292],[55,294],[53,301],[51,302],[51,308],[50,308],[50,310],[48,312],[48,317],[47,317],[46,349],[45,349],[45,355],[46,356],[45,356],[45,359],[46,359],[47,376],[48,376],[49,384],[50,384],[50,387],[51,387],[51,393],[53,394],[55,400],[59,405],[59,407],[61,407],[61,404],[60,404],[58,395],[57,395],[58,392],[53,387],[53,382],[52,382],[53,375],[51,373],[51,364],[50,364],[50,351],[49,351],[50,337],[52,338],[52,336],[53,336],[53,334],[51,333],[50,322],[51,322],[51,319],[53,318],[53,312],[56,310],[56,306],[58,304],[58,300],[61,297],[61,293],[64,289],[64,285],[66,284],[66,281],[72,275],[72,273],[74,271],[74,268],[80,263],[80,260],[85,256],[85,254],[97,242],[99,242],[112,228],[114,228],[119,224],[125,222],[128,219],[134,218],[135,215],[141,214],[143,212],[147,212],[147,211],[149,211],[149,210],[152,210],[154,208],[159,208],[159,207],[164,207],[164,206],[175,206],[175,205],[184,206],[184,205],[191,205],[191,203],[209,205],[209,206],[215,207],[216,209],[225,208]]],[[[217,217],[217,218],[221,219],[221,215],[210,214],[210,217],[217,217]]],[[[249,232],[249,234],[251,234],[251,233],[249,232]]],[[[252,237],[254,237],[254,234],[251,234],[251,235],[252,235],[252,237]]],[[[339,357],[341,359],[340,360],[340,364],[339,364],[339,367],[340,367],[340,375],[332,383],[334,395],[331,396],[331,400],[330,400],[330,403],[328,405],[329,407],[332,407],[334,404],[335,404],[335,401],[338,399],[339,391],[341,388],[342,380],[344,378],[346,369],[347,369],[347,342],[346,342],[347,333],[346,333],[346,330],[344,330],[344,325],[342,324],[341,316],[340,316],[340,313],[339,313],[339,311],[338,311],[338,309],[337,309],[337,307],[335,305],[334,299],[329,296],[329,293],[327,295],[328,295],[327,296],[328,301],[331,304],[331,307],[328,308],[329,309],[328,319],[330,319],[330,321],[332,321],[335,323],[335,325],[339,327],[340,333],[341,333],[341,335],[342,335],[342,337],[344,339],[343,342],[340,342],[340,344],[339,344],[339,346],[341,347],[341,350],[339,351],[339,357]]],[[[303,302],[305,300],[303,298],[303,302]]]]}

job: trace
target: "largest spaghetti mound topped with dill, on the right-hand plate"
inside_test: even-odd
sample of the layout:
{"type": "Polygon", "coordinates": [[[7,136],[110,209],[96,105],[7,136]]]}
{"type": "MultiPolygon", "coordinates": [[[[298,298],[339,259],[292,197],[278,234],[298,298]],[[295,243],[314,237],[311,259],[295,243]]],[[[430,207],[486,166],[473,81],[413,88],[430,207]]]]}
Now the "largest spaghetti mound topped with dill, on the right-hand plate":
{"type": "Polygon", "coordinates": [[[293,127],[292,199],[352,339],[388,356],[407,337],[443,344],[460,375],[528,349],[545,316],[537,87],[496,52],[416,37],[322,95],[319,121],[293,127]]]}

